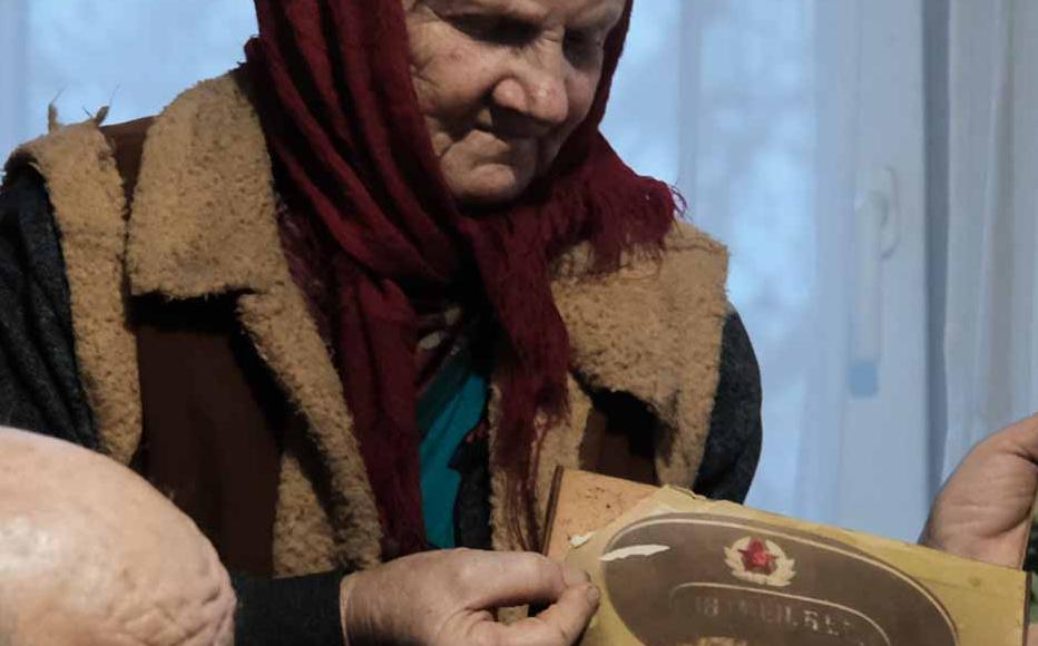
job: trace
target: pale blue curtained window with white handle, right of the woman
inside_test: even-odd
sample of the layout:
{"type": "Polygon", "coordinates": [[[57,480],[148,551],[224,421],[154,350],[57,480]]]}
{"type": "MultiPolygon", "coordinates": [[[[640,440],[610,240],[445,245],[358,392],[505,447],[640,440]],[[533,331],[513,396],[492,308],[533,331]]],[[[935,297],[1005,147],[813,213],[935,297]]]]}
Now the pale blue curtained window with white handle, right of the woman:
{"type": "Polygon", "coordinates": [[[932,493],[921,2],[653,0],[635,28],[609,135],[732,251],[764,380],[750,502],[914,538],[932,493]]]}

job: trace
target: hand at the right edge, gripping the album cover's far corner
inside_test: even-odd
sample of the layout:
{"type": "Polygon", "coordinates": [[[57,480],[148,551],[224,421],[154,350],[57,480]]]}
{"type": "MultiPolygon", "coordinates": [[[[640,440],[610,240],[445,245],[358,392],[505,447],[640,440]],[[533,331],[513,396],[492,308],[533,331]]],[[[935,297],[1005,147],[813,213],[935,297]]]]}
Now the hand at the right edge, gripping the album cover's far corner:
{"type": "Polygon", "coordinates": [[[930,511],[919,542],[1019,567],[1038,490],[1038,417],[1000,431],[962,461],[930,511]]]}

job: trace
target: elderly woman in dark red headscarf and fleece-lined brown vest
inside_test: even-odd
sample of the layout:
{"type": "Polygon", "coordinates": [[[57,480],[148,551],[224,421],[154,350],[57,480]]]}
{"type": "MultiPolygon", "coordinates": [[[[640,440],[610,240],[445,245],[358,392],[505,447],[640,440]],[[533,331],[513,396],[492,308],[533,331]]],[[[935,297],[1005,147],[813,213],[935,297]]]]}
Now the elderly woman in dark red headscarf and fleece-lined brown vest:
{"type": "Polygon", "coordinates": [[[598,131],[630,1],[256,7],[241,69],[8,163],[0,422],[166,493],[238,643],[571,643],[555,469],[742,500],[760,451],[724,249],[598,131]]]}

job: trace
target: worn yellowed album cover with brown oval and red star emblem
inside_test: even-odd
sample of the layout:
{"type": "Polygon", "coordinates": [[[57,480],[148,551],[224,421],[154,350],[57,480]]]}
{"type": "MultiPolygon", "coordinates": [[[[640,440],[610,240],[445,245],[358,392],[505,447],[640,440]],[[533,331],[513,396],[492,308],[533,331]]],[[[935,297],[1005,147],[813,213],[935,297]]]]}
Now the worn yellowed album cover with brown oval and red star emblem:
{"type": "Polygon", "coordinates": [[[584,645],[1020,646],[1022,571],[560,471],[545,551],[603,589],[584,645]]]}

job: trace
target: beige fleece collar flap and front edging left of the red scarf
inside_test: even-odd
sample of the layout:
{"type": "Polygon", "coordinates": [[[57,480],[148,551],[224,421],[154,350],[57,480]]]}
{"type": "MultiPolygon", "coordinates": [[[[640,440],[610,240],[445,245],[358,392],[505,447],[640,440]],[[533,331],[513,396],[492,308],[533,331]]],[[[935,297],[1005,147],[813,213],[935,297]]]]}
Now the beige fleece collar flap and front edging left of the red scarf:
{"type": "Polygon", "coordinates": [[[277,575],[334,559],[379,561],[381,528],[342,385],[281,248],[266,143],[235,75],[203,82],[158,117],[145,144],[129,229],[135,294],[172,298],[243,292],[238,316],[306,419],[329,484],[317,503],[293,451],[276,511],[277,575]],[[327,551],[331,518],[334,554],[327,551]],[[304,536],[300,528],[319,531],[304,536]],[[315,529],[316,528],[316,529],[315,529]]]}

